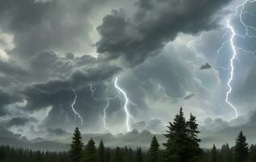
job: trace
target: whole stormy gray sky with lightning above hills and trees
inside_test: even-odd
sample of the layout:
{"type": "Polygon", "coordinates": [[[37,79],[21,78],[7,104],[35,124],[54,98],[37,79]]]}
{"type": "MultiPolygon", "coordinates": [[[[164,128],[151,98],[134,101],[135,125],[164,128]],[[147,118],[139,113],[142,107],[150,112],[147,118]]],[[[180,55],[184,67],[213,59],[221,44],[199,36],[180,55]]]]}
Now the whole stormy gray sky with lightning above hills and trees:
{"type": "Polygon", "coordinates": [[[1,130],[256,124],[255,19],[254,0],[3,0],[1,130]]]}

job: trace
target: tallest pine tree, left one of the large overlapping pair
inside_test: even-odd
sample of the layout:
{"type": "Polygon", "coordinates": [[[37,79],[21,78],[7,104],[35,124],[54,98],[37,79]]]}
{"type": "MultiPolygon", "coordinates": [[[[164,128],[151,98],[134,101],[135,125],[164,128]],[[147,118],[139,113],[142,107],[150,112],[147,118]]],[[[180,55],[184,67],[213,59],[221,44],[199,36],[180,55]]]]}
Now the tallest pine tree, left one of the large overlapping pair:
{"type": "Polygon", "coordinates": [[[190,160],[188,156],[190,137],[188,135],[187,123],[182,108],[175,116],[174,122],[169,122],[167,126],[168,134],[164,134],[167,143],[164,143],[166,151],[166,161],[187,162],[190,160]]]}

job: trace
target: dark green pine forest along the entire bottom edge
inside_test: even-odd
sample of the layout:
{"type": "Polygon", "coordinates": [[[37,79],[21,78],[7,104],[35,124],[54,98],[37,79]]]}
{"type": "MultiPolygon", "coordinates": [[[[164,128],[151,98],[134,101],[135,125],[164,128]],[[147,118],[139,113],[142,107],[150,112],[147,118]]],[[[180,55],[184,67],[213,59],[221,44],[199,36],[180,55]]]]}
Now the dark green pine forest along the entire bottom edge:
{"type": "MultiPolygon", "coordinates": [[[[133,150],[128,147],[105,147],[101,140],[96,147],[93,139],[83,144],[79,128],[75,128],[70,144],[70,151],[50,152],[31,151],[8,146],[0,147],[2,162],[256,162],[256,145],[246,143],[242,131],[237,135],[235,146],[224,144],[221,149],[215,145],[211,149],[199,147],[198,124],[196,117],[190,114],[186,121],[182,108],[173,122],[167,126],[166,143],[158,143],[152,137],[147,151],[139,147],[133,150]],[[163,149],[160,148],[163,144],[163,149]]],[[[232,137],[231,137],[232,138],[232,137]]]]}

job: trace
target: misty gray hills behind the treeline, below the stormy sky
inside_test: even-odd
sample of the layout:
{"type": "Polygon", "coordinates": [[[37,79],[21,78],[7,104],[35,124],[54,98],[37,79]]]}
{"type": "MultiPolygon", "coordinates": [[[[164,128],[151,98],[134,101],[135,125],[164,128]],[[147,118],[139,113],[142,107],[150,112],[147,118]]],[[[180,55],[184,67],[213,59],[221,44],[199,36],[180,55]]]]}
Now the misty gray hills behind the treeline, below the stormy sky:
{"type": "MultiPolygon", "coordinates": [[[[217,147],[220,147],[223,143],[229,143],[233,146],[235,139],[230,137],[236,137],[236,134],[243,130],[246,134],[249,143],[255,143],[254,134],[256,134],[255,126],[237,126],[230,127],[219,131],[203,131],[199,134],[202,139],[201,147],[210,148],[212,144],[215,143],[217,147]]],[[[0,145],[9,145],[13,147],[23,147],[31,148],[32,150],[48,150],[48,151],[67,151],[70,148],[72,134],[64,134],[58,137],[46,137],[36,138],[32,140],[27,139],[17,139],[10,137],[1,137],[0,135],[0,145]],[[49,138],[49,139],[48,139],[49,138]],[[51,140],[50,140],[51,138],[51,140]]],[[[106,134],[82,134],[83,143],[92,138],[95,140],[96,144],[100,143],[100,139],[105,142],[107,147],[142,147],[146,150],[151,143],[151,138],[154,134],[151,134],[149,130],[143,130],[139,132],[138,130],[133,130],[127,134],[117,134],[113,135],[110,133],[106,134]]],[[[165,143],[166,139],[163,134],[156,134],[156,138],[159,143],[165,143]]]]}

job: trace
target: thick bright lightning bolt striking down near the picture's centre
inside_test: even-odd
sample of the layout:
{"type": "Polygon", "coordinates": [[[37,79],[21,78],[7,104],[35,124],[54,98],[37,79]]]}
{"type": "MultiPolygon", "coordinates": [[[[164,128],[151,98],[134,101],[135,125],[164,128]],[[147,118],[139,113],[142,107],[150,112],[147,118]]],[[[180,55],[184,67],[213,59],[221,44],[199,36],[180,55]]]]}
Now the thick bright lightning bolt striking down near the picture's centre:
{"type": "Polygon", "coordinates": [[[126,112],[126,130],[130,131],[130,117],[132,117],[132,115],[130,114],[129,109],[128,109],[128,104],[130,103],[130,100],[128,99],[128,97],[126,95],[126,92],[121,87],[119,87],[117,85],[117,81],[118,81],[118,78],[116,77],[114,85],[117,88],[117,91],[121,92],[122,96],[124,96],[125,104],[124,104],[123,108],[125,109],[125,112],[126,112]]]}

